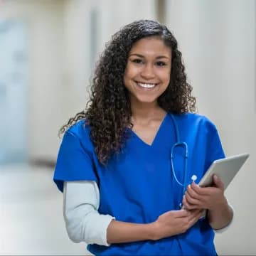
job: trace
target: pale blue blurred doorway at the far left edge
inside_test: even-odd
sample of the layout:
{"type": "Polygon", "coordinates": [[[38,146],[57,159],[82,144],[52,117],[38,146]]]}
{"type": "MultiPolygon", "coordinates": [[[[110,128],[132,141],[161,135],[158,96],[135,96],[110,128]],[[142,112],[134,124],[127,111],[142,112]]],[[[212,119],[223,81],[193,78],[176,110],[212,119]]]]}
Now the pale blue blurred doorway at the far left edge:
{"type": "Polygon", "coordinates": [[[27,159],[26,24],[0,20],[0,164],[27,159]]]}

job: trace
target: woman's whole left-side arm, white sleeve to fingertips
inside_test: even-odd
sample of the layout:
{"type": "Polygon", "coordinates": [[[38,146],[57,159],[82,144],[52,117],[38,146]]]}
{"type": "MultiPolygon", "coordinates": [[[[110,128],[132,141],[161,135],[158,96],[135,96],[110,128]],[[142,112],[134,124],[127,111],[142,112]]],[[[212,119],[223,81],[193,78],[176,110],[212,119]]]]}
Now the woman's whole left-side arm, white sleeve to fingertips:
{"type": "Polygon", "coordinates": [[[160,215],[153,223],[126,223],[98,213],[99,203],[99,192],[94,181],[65,182],[63,210],[71,240],[105,246],[159,240],[186,232],[201,215],[200,210],[172,210],[160,215]]]}

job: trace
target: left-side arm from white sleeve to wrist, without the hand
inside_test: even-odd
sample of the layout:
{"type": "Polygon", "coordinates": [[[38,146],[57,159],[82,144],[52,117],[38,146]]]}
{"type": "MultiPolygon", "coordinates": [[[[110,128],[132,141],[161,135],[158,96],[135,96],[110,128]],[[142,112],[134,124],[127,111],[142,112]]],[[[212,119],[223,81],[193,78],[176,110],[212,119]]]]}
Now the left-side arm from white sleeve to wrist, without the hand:
{"type": "Polygon", "coordinates": [[[124,223],[98,213],[100,195],[95,181],[65,182],[63,195],[65,224],[73,242],[109,246],[112,242],[150,240],[153,236],[151,224],[124,223]]]}

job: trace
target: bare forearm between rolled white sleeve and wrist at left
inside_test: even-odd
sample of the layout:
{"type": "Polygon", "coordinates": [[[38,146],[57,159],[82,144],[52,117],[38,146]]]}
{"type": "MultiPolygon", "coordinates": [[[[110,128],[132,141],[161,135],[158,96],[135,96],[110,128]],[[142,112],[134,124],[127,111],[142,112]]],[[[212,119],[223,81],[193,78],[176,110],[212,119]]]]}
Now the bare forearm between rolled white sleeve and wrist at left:
{"type": "Polygon", "coordinates": [[[154,240],[154,223],[139,224],[112,220],[107,228],[107,242],[154,240]]]}

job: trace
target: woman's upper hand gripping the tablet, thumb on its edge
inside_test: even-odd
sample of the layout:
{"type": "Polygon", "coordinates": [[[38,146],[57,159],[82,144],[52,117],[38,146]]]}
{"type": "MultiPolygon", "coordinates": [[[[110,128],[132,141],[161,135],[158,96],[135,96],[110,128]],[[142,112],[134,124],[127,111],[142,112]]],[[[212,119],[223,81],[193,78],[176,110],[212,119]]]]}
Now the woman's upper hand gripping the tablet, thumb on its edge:
{"type": "Polygon", "coordinates": [[[227,201],[224,196],[224,184],[216,175],[213,176],[213,186],[210,187],[201,188],[193,182],[188,185],[182,203],[188,210],[214,210],[225,206],[227,201]]]}

